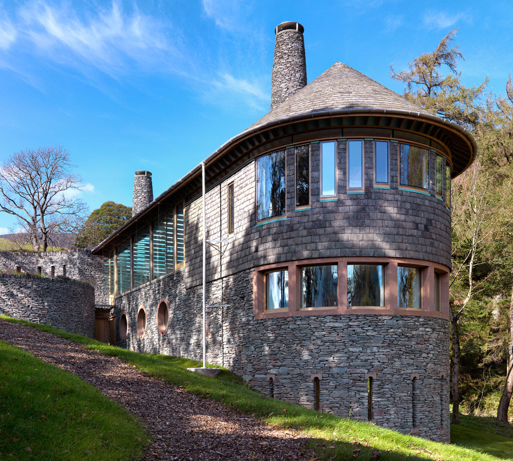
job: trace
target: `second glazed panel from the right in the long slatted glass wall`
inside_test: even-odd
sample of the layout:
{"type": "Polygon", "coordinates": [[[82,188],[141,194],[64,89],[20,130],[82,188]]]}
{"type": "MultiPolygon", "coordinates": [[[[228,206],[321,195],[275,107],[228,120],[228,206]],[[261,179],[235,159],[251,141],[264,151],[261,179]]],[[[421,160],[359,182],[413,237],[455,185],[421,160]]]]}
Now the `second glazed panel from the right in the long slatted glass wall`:
{"type": "Polygon", "coordinates": [[[153,222],[153,278],[174,270],[174,212],[161,213],[153,222]]]}

